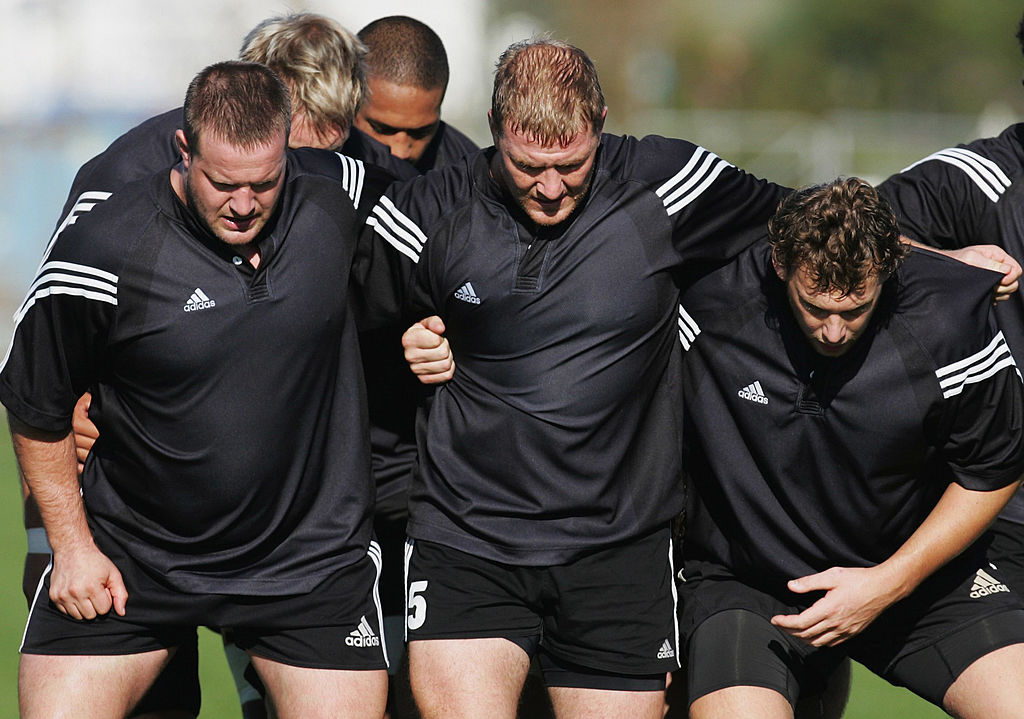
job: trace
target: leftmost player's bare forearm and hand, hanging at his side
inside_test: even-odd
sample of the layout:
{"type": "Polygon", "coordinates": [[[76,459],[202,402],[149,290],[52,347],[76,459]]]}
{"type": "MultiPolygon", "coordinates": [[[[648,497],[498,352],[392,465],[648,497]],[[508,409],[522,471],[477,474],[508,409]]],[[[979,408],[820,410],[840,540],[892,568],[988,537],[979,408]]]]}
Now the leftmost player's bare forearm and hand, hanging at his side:
{"type": "Polygon", "coordinates": [[[8,415],[18,465],[53,548],[50,599],[74,619],[94,619],[113,606],[124,616],[128,592],[121,573],[96,547],[79,491],[71,432],[43,432],[8,415]]]}

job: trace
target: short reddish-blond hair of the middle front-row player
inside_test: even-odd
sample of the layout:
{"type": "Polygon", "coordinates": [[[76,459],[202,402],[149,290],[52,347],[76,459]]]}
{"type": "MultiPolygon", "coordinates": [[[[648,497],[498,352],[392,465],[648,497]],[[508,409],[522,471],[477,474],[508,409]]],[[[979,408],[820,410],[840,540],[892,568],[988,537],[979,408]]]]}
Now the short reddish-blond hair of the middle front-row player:
{"type": "Polygon", "coordinates": [[[604,93],[587,53],[550,38],[517,42],[498,58],[490,117],[544,145],[572,141],[580,132],[600,132],[604,93]]]}

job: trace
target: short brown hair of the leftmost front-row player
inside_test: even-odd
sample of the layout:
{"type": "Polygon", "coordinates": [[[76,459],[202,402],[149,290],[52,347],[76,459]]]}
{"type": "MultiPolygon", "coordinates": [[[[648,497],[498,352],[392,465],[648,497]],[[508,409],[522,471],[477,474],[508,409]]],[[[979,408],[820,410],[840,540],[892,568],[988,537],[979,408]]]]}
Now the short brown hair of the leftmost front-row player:
{"type": "Polygon", "coordinates": [[[292,111],[288,88],[273,71],[258,62],[228,60],[205,68],[188,84],[184,134],[199,156],[200,136],[213,136],[236,147],[253,150],[287,136],[292,111]]]}

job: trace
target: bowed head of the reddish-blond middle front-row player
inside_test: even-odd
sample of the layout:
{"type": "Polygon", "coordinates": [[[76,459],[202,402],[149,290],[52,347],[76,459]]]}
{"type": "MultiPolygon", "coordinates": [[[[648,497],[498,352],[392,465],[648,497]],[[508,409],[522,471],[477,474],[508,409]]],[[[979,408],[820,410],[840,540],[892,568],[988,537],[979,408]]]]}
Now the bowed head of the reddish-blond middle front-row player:
{"type": "Polygon", "coordinates": [[[538,225],[557,224],[583,203],[607,108],[587,54],[554,40],[509,47],[498,60],[492,174],[538,225]]]}

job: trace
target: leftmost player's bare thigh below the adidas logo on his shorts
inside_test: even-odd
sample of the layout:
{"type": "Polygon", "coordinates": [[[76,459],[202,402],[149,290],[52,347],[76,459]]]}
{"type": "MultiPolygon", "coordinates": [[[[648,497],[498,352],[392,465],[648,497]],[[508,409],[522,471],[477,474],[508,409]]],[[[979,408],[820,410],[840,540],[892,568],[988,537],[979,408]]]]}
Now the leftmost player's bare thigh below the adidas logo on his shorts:
{"type": "Polygon", "coordinates": [[[381,719],[387,672],[295,667],[253,655],[278,719],[381,719]]]}

